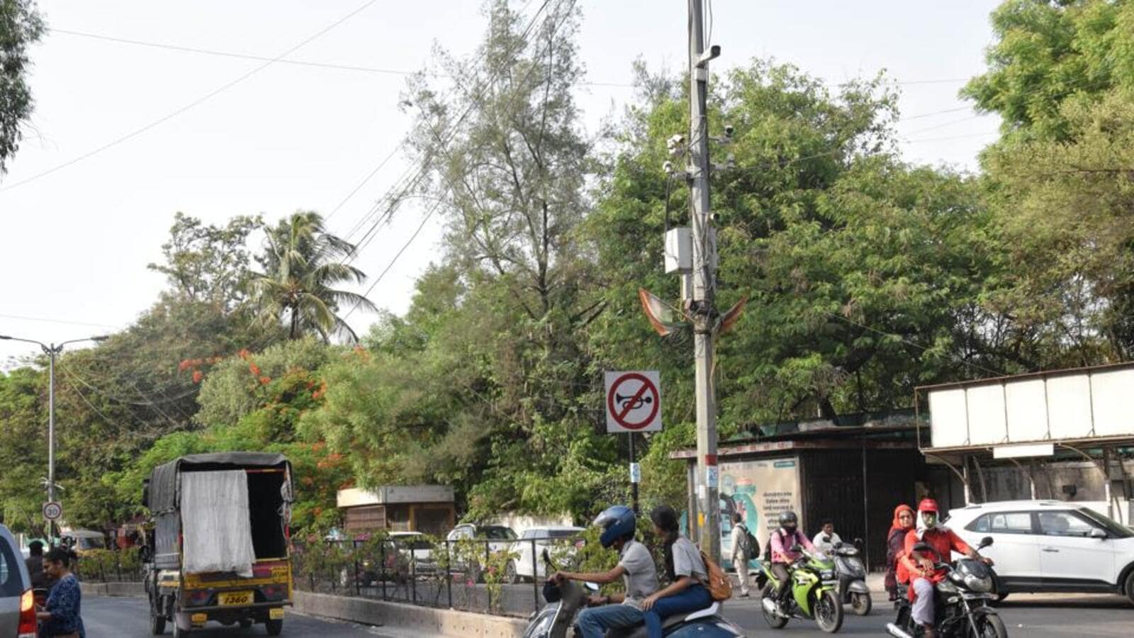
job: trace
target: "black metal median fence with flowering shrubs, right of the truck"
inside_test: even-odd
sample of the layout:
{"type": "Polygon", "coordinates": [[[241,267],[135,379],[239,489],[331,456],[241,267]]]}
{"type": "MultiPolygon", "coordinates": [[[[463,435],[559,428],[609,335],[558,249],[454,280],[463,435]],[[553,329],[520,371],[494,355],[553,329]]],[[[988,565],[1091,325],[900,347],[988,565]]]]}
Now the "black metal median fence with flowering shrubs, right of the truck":
{"type": "Polygon", "coordinates": [[[431,540],[383,537],[297,544],[299,589],[526,618],[543,606],[548,568],[569,566],[574,538],[431,540]]]}

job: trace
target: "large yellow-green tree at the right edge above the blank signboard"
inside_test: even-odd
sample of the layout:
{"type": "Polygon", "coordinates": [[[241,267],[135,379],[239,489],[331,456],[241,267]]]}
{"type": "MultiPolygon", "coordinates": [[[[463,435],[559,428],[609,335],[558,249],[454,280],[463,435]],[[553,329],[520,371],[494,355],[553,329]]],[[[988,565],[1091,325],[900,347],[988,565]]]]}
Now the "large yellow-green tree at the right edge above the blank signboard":
{"type": "Polygon", "coordinates": [[[989,307],[1031,369],[1134,356],[1134,3],[1010,0],[963,91],[1004,118],[983,154],[1006,285],[989,307]]]}

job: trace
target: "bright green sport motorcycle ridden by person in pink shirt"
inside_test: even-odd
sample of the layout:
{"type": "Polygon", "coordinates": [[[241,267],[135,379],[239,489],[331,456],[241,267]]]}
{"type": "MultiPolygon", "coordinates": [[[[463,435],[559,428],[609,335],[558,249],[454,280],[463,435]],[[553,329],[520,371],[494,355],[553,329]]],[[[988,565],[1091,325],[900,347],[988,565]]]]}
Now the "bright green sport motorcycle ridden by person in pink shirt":
{"type": "Polygon", "coordinates": [[[811,555],[801,547],[792,548],[801,554],[799,559],[788,565],[792,577],[792,596],[784,608],[777,602],[776,590],[779,581],[772,573],[770,563],[760,562],[761,590],[760,606],[764,621],[772,629],[782,629],[787,621],[814,620],[815,624],[827,633],[835,633],[843,627],[843,601],[839,599],[839,581],[835,573],[833,561],[824,556],[811,555]]]}

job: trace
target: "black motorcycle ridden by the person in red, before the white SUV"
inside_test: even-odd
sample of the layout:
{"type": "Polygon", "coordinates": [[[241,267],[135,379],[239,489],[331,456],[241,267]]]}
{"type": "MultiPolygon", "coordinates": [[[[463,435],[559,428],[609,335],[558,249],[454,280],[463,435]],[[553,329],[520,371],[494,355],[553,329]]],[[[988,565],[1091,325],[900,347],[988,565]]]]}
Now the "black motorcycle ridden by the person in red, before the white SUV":
{"type": "MultiPolygon", "coordinates": [[[[992,545],[992,537],[985,536],[976,547],[992,545]]],[[[914,546],[919,552],[932,552],[924,543],[914,546]]],[[[951,565],[939,562],[934,565],[945,570],[945,579],[933,588],[934,631],[940,638],[1008,638],[1004,621],[991,604],[996,602],[996,572],[983,561],[958,559],[951,565]]],[[[917,638],[923,630],[913,620],[913,606],[904,590],[898,588],[897,618],[886,626],[886,632],[895,638],[917,638]]]]}

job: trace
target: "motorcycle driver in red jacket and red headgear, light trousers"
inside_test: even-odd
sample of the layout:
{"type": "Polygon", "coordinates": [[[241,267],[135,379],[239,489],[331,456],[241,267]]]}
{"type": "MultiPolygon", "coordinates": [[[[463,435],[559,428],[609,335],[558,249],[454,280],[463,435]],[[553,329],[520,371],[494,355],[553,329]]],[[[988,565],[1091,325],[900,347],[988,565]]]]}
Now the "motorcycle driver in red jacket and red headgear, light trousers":
{"type": "Polygon", "coordinates": [[[945,578],[945,571],[936,568],[934,556],[931,554],[937,554],[936,557],[939,562],[947,562],[953,552],[971,559],[983,560],[990,565],[992,560],[982,559],[956,532],[938,522],[937,501],[922,500],[917,505],[917,513],[924,527],[911,529],[906,534],[906,552],[902,560],[909,572],[909,596],[913,602],[914,622],[924,629],[924,638],[934,638],[933,587],[945,578]],[[923,548],[928,545],[931,552],[915,548],[920,544],[924,544],[923,548]]]}

